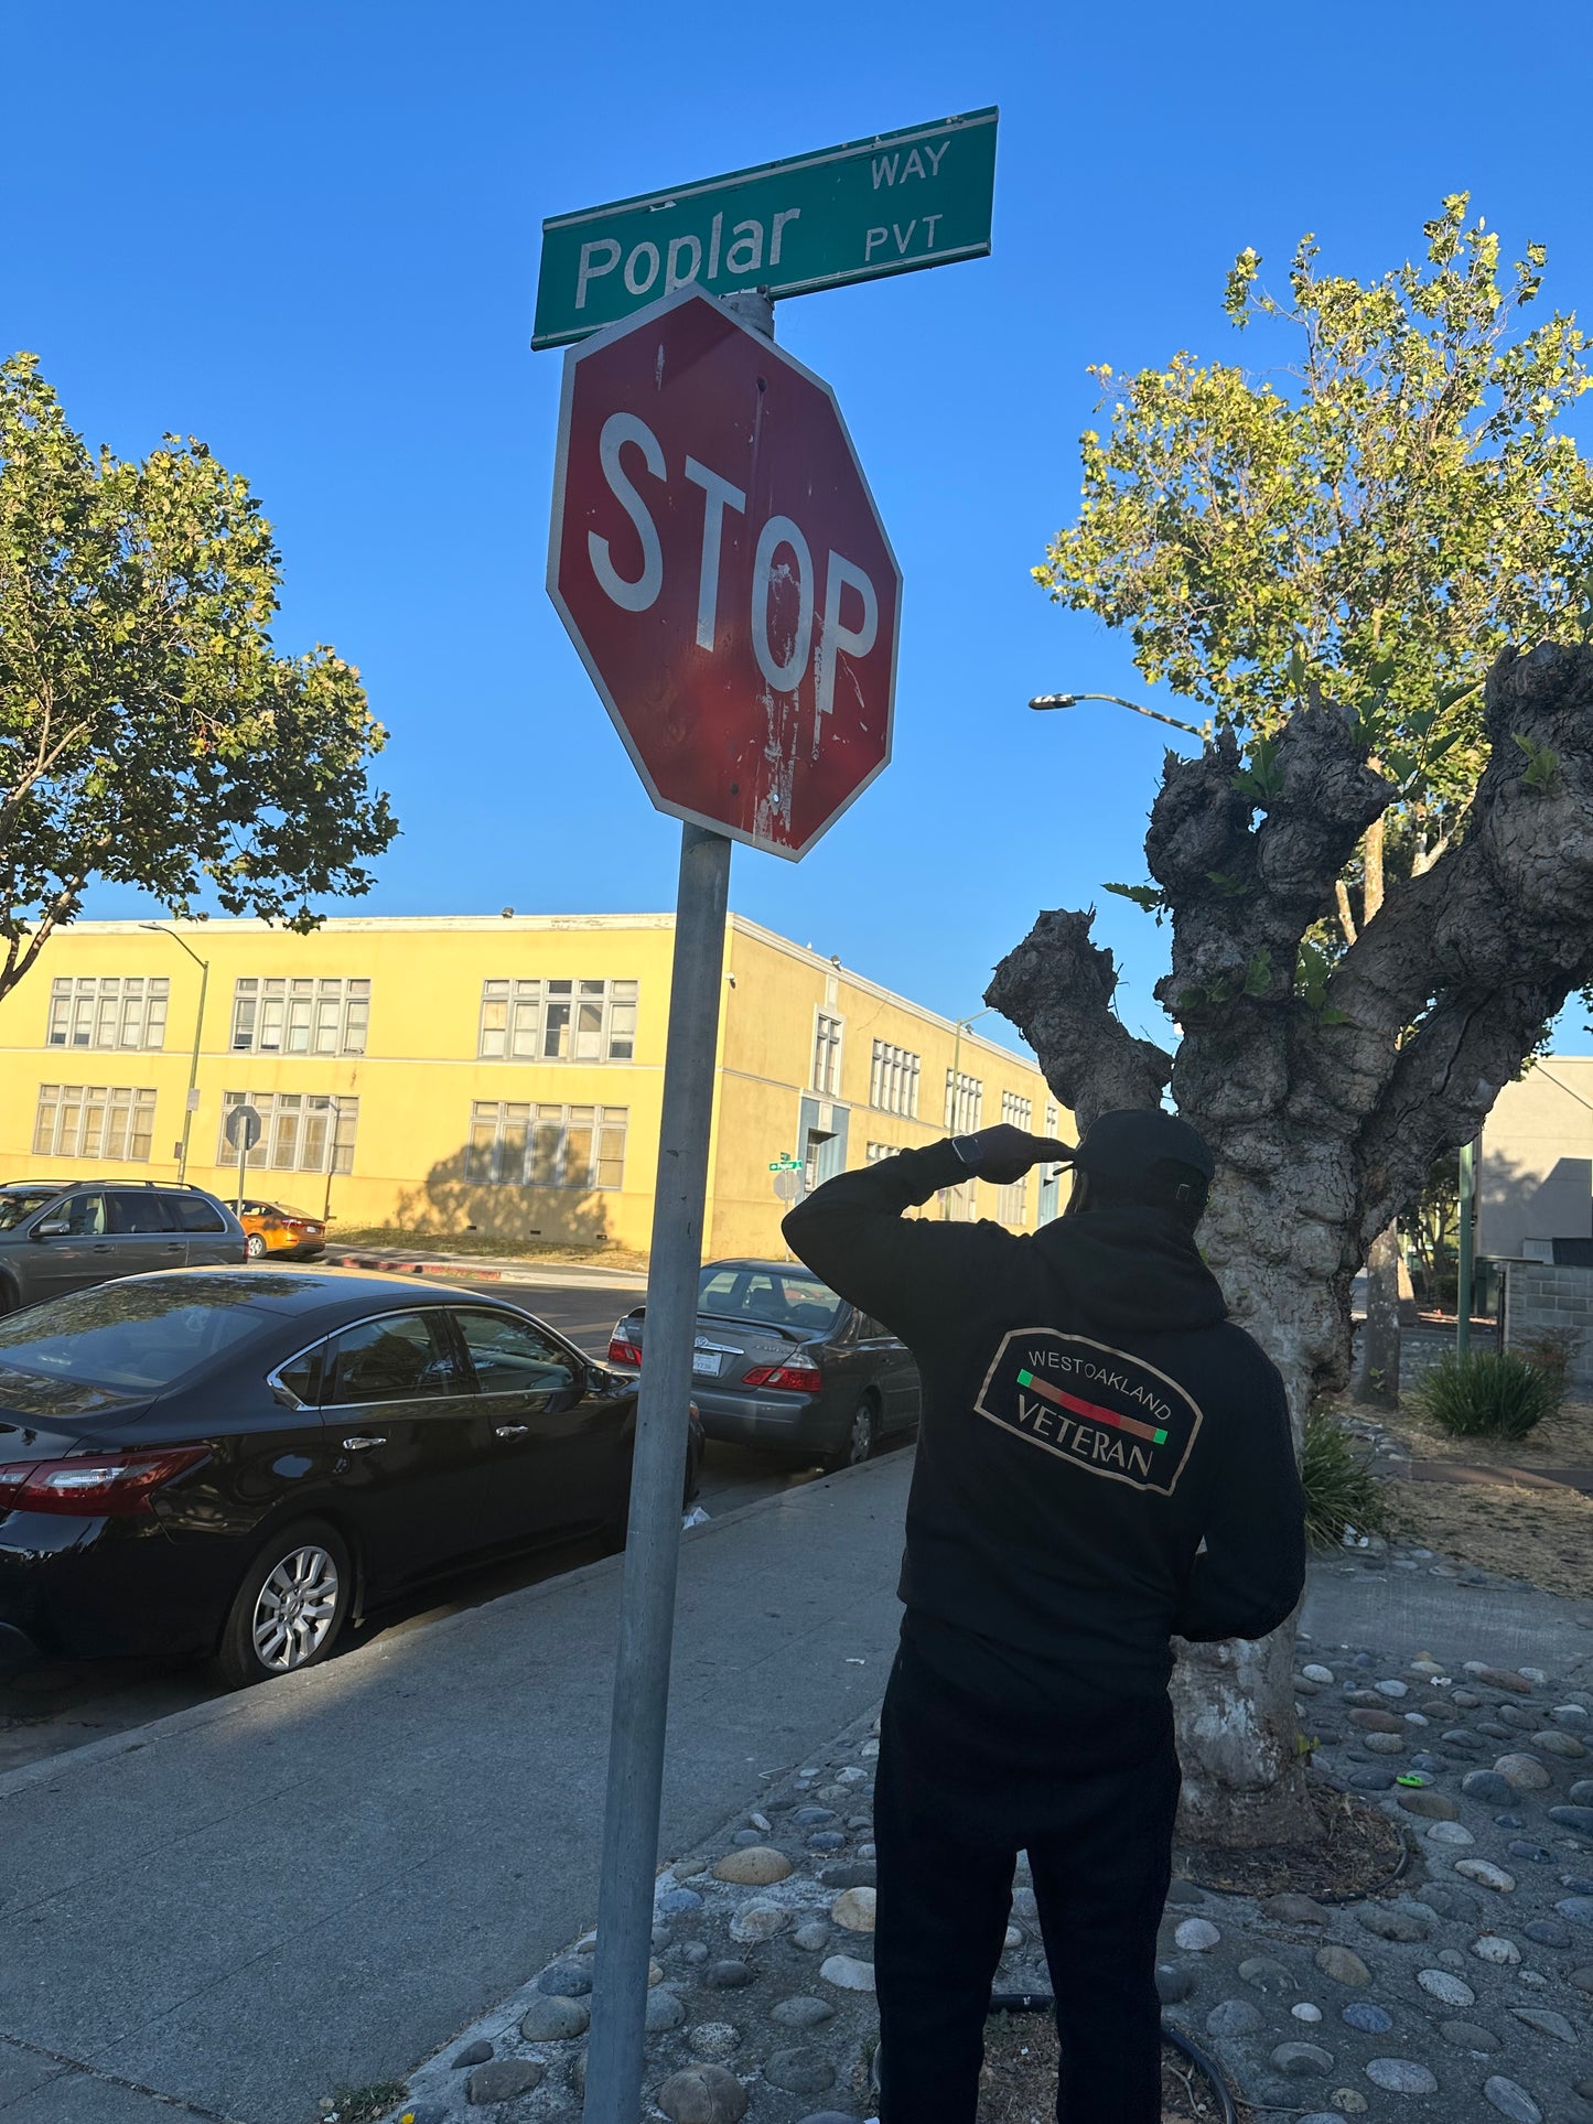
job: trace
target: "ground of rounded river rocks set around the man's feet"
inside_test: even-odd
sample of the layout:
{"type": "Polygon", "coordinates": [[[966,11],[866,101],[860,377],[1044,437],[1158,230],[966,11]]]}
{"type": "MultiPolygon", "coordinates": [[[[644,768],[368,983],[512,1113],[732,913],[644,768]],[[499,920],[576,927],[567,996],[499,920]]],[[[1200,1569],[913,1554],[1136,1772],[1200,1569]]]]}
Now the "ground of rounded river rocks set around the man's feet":
{"type": "MultiPolygon", "coordinates": [[[[1175,1880],[1166,2022],[1257,2120],[1593,2124],[1593,1640],[1557,1674],[1296,1655],[1315,1769],[1400,1825],[1404,1873],[1349,1903],[1175,1880]]],[[[873,1725],[658,1875],[648,2118],[873,2116],[873,1725]]],[[[1047,1988],[1034,1920],[1020,1861],[998,1990],[1047,1988]]],[[[590,1954],[573,1941],[427,2060],[393,2124],[578,2124],[590,1954]]]]}

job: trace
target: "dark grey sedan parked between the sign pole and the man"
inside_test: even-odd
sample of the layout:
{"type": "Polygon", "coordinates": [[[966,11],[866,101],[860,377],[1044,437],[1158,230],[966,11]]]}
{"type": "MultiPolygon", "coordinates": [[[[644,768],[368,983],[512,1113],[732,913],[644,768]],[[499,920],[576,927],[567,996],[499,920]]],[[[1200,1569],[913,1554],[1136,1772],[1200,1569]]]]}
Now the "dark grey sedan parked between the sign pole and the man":
{"type": "MultiPolygon", "coordinates": [[[[646,1306],[614,1328],[610,1364],[639,1366],[646,1306]]],[[[879,1321],[790,1262],[707,1262],[697,1287],[692,1398],[709,1438],[854,1468],[918,1427],[918,1366],[879,1321]]]]}

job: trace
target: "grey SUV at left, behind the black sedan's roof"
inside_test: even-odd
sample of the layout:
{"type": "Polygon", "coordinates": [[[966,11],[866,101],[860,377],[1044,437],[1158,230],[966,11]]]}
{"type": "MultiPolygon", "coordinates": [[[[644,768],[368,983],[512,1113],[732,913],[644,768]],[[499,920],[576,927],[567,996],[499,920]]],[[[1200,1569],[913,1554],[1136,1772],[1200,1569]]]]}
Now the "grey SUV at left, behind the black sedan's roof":
{"type": "Polygon", "coordinates": [[[244,1228],[202,1187],[164,1181],[0,1185],[0,1313],[151,1268],[227,1268],[244,1228]]]}

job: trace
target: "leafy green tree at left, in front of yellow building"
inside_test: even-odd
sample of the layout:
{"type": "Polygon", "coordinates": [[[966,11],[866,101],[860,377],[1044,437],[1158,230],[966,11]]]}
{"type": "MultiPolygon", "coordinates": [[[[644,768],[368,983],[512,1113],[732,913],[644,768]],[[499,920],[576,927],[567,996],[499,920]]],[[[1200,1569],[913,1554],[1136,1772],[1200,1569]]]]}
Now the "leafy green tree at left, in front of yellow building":
{"type": "Polygon", "coordinates": [[[387,733],[333,650],[278,656],[280,554],[202,442],[91,452],[0,363],[0,996],[91,877],[312,928],[397,833],[387,733]]]}

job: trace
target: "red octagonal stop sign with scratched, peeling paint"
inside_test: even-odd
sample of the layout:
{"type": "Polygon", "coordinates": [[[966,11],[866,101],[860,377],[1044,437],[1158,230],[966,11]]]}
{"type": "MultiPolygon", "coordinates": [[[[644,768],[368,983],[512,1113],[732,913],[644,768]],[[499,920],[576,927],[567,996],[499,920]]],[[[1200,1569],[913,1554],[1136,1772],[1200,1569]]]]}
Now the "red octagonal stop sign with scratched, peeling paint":
{"type": "Polygon", "coordinates": [[[890,760],[901,569],[835,395],[697,289],[565,355],[548,593],[661,811],[796,858],[890,760]]]}

